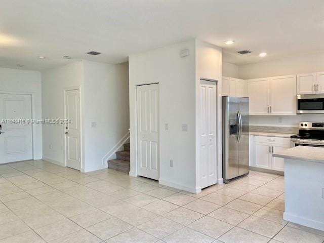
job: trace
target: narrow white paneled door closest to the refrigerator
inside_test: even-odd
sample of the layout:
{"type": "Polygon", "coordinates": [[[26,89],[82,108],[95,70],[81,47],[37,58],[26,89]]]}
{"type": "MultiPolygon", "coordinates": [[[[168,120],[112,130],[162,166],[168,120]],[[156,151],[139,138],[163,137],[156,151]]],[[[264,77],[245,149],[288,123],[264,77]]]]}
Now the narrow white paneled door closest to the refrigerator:
{"type": "Polygon", "coordinates": [[[213,185],[216,173],[216,83],[200,80],[200,186],[213,185]]]}

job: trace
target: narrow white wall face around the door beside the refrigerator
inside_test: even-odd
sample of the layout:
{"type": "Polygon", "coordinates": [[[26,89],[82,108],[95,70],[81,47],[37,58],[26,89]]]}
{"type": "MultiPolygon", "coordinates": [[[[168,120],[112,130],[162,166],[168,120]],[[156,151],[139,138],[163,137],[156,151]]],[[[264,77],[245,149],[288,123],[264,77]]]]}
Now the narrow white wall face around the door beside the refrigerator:
{"type": "MultiPolygon", "coordinates": [[[[223,63],[224,64],[224,63],[223,63]]],[[[197,191],[200,188],[200,130],[199,130],[199,97],[200,78],[218,80],[217,82],[217,126],[216,126],[216,146],[217,146],[217,179],[218,183],[223,183],[222,176],[222,49],[214,45],[196,41],[196,185],[197,191]]]]}

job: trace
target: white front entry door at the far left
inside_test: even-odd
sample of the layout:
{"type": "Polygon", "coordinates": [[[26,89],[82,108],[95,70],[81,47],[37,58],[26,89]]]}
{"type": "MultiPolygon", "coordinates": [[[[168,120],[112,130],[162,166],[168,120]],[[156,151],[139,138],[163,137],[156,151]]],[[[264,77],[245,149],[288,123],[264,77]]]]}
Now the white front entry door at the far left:
{"type": "Polygon", "coordinates": [[[0,94],[0,164],[32,159],[31,118],[30,95],[0,94]]]}

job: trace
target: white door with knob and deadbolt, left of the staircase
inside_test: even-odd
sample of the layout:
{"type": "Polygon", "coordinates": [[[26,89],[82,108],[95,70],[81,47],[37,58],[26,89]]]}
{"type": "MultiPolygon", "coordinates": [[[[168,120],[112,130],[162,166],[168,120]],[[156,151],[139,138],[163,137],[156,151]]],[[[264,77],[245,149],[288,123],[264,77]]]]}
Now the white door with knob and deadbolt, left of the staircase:
{"type": "Polygon", "coordinates": [[[65,161],[66,166],[80,170],[80,94],[79,90],[65,92],[65,161]]]}

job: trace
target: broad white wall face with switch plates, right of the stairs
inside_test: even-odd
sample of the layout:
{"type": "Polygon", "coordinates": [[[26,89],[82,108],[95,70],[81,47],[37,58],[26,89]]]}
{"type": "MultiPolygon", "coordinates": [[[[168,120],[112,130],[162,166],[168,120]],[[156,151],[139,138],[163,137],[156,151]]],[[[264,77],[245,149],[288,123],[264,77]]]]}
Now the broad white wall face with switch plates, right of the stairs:
{"type": "Polygon", "coordinates": [[[131,172],[137,175],[136,86],[159,83],[160,183],[194,191],[195,40],[129,57],[131,172]],[[181,50],[190,56],[180,58],[181,50]],[[169,124],[166,131],[165,124],[169,124]],[[188,132],[182,132],[182,124],[188,132]],[[174,167],[170,167],[170,160],[174,167]]]}

